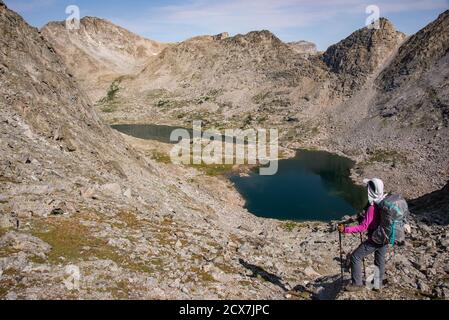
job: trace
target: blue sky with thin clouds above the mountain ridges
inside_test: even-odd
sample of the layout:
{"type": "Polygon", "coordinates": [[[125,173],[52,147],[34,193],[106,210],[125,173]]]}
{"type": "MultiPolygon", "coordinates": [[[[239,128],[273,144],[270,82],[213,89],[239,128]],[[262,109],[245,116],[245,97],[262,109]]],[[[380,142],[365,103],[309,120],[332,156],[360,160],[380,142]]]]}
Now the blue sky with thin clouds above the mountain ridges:
{"type": "Polygon", "coordinates": [[[308,40],[320,50],[362,28],[368,5],[413,34],[449,8],[449,0],[5,0],[31,25],[65,20],[68,5],[150,39],[177,42],[202,34],[268,29],[283,41],[308,40]]]}

